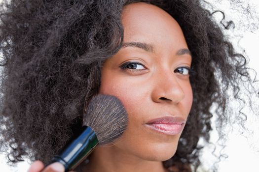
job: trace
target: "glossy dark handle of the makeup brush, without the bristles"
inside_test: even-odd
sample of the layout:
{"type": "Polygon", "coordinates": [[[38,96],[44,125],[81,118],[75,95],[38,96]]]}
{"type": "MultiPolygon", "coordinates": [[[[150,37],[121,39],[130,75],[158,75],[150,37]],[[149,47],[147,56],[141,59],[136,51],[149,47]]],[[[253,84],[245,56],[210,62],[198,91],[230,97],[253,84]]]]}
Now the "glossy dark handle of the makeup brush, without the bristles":
{"type": "Polygon", "coordinates": [[[92,128],[84,126],[82,133],[59,155],[55,155],[51,163],[59,162],[64,165],[65,172],[74,170],[93,151],[98,144],[95,132],[92,128]]]}

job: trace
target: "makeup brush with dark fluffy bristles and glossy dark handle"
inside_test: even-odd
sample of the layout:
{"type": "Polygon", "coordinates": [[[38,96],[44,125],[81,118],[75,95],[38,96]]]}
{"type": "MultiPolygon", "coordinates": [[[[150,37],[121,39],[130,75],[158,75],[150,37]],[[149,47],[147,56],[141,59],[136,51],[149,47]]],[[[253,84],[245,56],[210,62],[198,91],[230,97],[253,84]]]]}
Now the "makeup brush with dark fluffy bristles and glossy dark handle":
{"type": "Polygon", "coordinates": [[[114,96],[99,94],[84,109],[82,133],[69,143],[51,164],[59,162],[65,172],[74,170],[96,145],[114,143],[127,127],[128,116],[122,103],[114,96]]]}

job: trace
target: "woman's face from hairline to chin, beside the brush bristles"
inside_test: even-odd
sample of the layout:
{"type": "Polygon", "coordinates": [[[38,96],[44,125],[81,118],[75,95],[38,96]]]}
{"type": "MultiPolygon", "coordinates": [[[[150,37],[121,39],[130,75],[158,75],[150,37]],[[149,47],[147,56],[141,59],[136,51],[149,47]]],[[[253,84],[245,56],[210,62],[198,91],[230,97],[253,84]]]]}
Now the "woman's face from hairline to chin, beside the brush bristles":
{"type": "Polygon", "coordinates": [[[178,23],[154,5],[127,5],[122,24],[124,46],[105,61],[99,92],[119,98],[128,113],[113,148],[164,161],[175,154],[191,108],[191,56],[178,23]]]}

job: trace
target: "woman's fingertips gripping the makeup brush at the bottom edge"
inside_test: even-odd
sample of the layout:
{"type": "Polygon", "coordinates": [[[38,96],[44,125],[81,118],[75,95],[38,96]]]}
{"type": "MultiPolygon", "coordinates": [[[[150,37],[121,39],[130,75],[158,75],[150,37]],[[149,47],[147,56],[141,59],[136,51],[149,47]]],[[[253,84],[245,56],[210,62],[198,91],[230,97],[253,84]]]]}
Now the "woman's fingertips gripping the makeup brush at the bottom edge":
{"type": "Polygon", "coordinates": [[[65,168],[60,163],[53,163],[47,166],[44,170],[44,165],[41,161],[35,161],[28,172],[65,172],[65,168]]]}

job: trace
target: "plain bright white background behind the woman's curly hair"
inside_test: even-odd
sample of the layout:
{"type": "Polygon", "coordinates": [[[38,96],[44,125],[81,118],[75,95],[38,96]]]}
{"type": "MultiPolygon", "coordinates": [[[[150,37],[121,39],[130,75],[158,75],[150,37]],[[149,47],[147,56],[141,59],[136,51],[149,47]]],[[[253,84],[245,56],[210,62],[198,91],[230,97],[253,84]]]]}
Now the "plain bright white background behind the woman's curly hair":
{"type": "MultiPolygon", "coordinates": [[[[254,68],[259,73],[259,29],[253,29],[252,25],[253,22],[259,25],[258,20],[253,19],[253,16],[245,15],[242,10],[240,10],[239,13],[236,13],[235,10],[231,9],[232,6],[227,0],[212,0],[212,2],[217,5],[216,9],[222,9],[226,13],[226,19],[235,20],[236,29],[232,35],[243,35],[243,38],[235,38],[233,41],[236,42],[239,47],[237,47],[237,49],[240,50],[240,47],[242,47],[246,51],[246,55],[250,59],[250,67],[254,68]],[[248,29],[249,26],[250,29],[248,29]]],[[[256,16],[259,17],[259,0],[249,0],[249,3],[253,9],[257,10],[254,12],[257,12],[256,16]]],[[[248,7],[245,3],[242,5],[243,7],[248,7]]],[[[220,15],[218,15],[217,18],[220,18],[220,15]]],[[[228,31],[227,33],[231,34],[230,32],[228,31]]],[[[251,75],[254,76],[253,73],[251,73],[251,75]]],[[[259,80],[258,76],[257,79],[259,80]]],[[[248,115],[246,126],[250,131],[254,131],[254,134],[242,136],[242,134],[237,131],[238,128],[234,128],[231,134],[228,135],[228,140],[225,142],[226,147],[223,152],[228,155],[228,158],[222,159],[218,164],[219,172],[259,172],[258,123],[258,117],[255,115],[253,116],[252,114],[248,115]]],[[[211,136],[211,141],[215,142],[217,140],[217,133],[214,131],[211,136]]],[[[212,150],[213,147],[211,146],[207,146],[204,149],[201,158],[203,166],[199,169],[200,172],[212,172],[210,169],[212,167],[212,162],[215,160],[215,157],[212,155],[212,150]]],[[[9,167],[6,165],[6,161],[6,157],[3,154],[0,154],[1,172],[26,172],[29,167],[27,162],[18,163],[17,167],[9,167]]]]}

